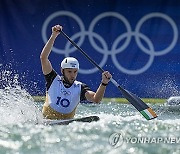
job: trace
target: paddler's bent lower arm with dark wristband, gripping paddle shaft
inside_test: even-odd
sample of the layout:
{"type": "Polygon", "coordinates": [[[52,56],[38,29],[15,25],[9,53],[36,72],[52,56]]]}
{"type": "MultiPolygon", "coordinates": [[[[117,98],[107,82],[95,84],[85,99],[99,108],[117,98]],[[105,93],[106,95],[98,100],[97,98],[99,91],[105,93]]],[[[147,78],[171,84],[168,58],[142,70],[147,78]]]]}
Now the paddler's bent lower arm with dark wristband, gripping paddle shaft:
{"type": "Polygon", "coordinates": [[[103,72],[102,73],[102,81],[101,81],[101,84],[99,85],[99,88],[97,89],[97,91],[96,92],[87,91],[85,93],[87,100],[95,102],[95,103],[100,103],[100,101],[102,100],[102,98],[104,96],[105,90],[106,90],[105,85],[108,84],[111,77],[112,77],[112,75],[108,71],[103,72]]]}

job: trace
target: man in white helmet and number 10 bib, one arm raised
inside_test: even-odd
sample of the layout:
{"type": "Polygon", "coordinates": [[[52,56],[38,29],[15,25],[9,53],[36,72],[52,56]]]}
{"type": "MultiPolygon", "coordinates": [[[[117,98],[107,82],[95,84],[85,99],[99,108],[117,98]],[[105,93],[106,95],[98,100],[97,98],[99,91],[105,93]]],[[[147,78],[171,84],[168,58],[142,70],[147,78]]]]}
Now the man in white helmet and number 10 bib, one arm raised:
{"type": "Polygon", "coordinates": [[[52,27],[52,34],[40,55],[42,71],[46,80],[46,101],[42,112],[47,119],[73,118],[76,107],[82,100],[100,103],[112,77],[108,71],[103,72],[99,88],[96,92],[91,91],[86,84],[76,80],[79,62],[73,57],[66,57],[61,62],[62,76],[59,76],[52,68],[48,57],[61,30],[62,26],[60,25],[52,27]]]}

